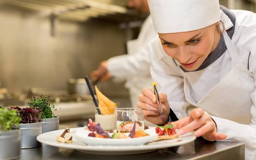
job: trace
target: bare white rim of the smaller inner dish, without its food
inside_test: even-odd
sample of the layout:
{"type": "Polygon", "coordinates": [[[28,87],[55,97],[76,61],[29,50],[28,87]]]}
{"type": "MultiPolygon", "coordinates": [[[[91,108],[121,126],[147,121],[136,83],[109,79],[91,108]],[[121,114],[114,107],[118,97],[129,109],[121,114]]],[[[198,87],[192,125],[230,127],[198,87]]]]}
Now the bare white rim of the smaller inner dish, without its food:
{"type": "MultiPolygon", "coordinates": [[[[129,138],[129,139],[109,139],[109,138],[95,138],[95,137],[88,137],[90,132],[84,129],[77,129],[73,138],[76,141],[83,142],[88,145],[143,145],[148,142],[152,142],[157,139],[158,134],[156,133],[155,128],[150,128],[145,130],[148,136],[139,137],[139,138],[129,138]]],[[[109,133],[112,136],[113,133],[109,133]]],[[[125,133],[129,136],[130,133],[125,133]]]]}

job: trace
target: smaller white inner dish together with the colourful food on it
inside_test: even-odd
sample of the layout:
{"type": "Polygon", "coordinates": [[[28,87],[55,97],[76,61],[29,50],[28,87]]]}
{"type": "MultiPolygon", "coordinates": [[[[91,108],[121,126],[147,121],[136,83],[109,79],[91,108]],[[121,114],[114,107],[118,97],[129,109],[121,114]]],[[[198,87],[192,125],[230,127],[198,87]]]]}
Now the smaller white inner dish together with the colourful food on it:
{"type": "Polygon", "coordinates": [[[155,128],[144,130],[136,122],[132,124],[131,132],[104,131],[100,124],[91,120],[85,129],[77,129],[73,137],[88,145],[143,145],[157,139],[155,128]],[[137,124],[137,125],[136,125],[137,124]],[[136,127],[138,127],[136,129],[136,127]]]}

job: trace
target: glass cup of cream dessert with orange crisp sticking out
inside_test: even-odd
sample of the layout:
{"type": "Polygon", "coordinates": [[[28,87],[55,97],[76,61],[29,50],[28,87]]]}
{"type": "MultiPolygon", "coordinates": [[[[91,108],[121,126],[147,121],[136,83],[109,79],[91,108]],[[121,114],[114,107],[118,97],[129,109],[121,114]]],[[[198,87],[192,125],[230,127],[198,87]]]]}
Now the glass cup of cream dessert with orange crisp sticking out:
{"type": "Polygon", "coordinates": [[[100,126],[105,131],[116,129],[117,126],[117,107],[96,107],[95,108],[95,123],[100,123],[100,126]],[[101,114],[99,114],[99,111],[101,114]]]}

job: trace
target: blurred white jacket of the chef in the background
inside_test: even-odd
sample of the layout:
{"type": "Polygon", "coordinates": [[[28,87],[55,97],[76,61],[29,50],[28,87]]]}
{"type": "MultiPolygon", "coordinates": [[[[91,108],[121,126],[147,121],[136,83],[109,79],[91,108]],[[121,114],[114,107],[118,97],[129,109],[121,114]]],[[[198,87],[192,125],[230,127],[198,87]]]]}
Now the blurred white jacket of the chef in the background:
{"type": "Polygon", "coordinates": [[[138,39],[128,41],[128,55],[121,55],[108,60],[107,69],[113,77],[127,78],[126,88],[129,89],[133,108],[137,108],[138,96],[144,87],[151,87],[150,60],[147,52],[140,49],[157,35],[154,31],[151,16],[144,21],[138,39]]]}

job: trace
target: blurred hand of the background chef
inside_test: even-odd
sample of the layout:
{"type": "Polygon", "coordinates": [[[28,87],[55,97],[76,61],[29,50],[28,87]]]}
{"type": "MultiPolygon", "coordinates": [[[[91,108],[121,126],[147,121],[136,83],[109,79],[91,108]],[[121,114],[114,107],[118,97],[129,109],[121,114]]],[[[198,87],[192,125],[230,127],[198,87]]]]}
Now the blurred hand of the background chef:
{"type": "Polygon", "coordinates": [[[92,71],[90,77],[93,81],[100,78],[100,81],[107,81],[111,78],[111,75],[107,69],[108,61],[102,61],[97,70],[92,71]]]}

